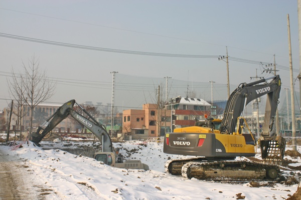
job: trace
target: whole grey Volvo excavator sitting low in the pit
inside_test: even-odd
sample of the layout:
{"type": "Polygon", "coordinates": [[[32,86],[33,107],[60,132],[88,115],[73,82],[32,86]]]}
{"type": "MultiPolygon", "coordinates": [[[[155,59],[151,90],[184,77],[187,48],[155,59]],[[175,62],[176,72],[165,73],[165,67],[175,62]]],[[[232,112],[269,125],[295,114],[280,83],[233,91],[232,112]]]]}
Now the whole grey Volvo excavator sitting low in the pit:
{"type": "Polygon", "coordinates": [[[69,115],[75,118],[83,126],[89,129],[101,142],[102,149],[100,152],[94,153],[94,158],[98,161],[102,161],[105,164],[118,168],[131,168],[131,169],[145,169],[149,170],[148,165],[141,163],[140,160],[126,160],[123,162],[122,157],[117,155],[114,151],[114,147],[111,138],[106,131],[104,125],[99,123],[89,112],[87,112],[82,106],[76,103],[83,112],[85,112],[89,118],[81,115],[73,109],[76,101],[69,100],[60,106],[41,126],[38,127],[36,132],[32,133],[32,139],[35,144],[40,146],[40,141],[63,119],[69,115]],[[46,126],[46,127],[44,127],[46,126]]]}

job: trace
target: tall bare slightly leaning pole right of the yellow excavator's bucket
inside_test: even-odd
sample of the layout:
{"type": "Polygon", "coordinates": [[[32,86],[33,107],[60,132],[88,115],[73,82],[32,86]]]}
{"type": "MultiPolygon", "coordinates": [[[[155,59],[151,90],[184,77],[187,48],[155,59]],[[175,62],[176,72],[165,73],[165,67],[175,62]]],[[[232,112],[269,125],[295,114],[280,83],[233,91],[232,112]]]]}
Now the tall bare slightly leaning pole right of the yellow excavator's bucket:
{"type": "Polygon", "coordinates": [[[290,41],[290,26],[289,26],[289,15],[288,14],[287,14],[287,34],[288,34],[289,74],[290,74],[292,150],[297,150],[297,146],[296,146],[296,123],[295,123],[296,119],[295,119],[295,110],[294,110],[293,73],[292,73],[292,58],[291,58],[291,41],[290,41]]]}

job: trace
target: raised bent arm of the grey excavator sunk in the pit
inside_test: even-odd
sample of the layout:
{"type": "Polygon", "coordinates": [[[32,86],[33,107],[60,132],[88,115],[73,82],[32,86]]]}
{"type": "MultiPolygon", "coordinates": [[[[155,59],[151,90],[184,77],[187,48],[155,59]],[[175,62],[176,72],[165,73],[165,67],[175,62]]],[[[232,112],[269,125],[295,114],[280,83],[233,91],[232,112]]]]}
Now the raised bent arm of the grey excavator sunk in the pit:
{"type": "Polygon", "coordinates": [[[47,135],[53,128],[55,128],[62,120],[67,118],[69,115],[84,125],[87,129],[89,129],[101,142],[102,151],[105,152],[113,152],[113,145],[109,134],[107,133],[105,127],[99,123],[96,119],[94,119],[84,108],[82,108],[79,104],[79,107],[90,117],[90,119],[84,117],[77,111],[73,109],[76,101],[69,100],[60,106],[56,112],[53,113],[41,126],[38,127],[36,132],[33,132],[32,139],[34,143],[39,145],[40,141],[47,135]],[[43,128],[44,125],[47,126],[43,128]],[[43,130],[41,132],[41,130],[43,130]]]}

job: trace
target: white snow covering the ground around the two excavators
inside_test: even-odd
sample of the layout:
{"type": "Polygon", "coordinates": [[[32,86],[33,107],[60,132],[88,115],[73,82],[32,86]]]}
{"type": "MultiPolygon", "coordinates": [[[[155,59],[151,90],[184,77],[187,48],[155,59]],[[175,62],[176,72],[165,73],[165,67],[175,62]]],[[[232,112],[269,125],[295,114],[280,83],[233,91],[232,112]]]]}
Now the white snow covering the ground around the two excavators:
{"type": "MultiPolygon", "coordinates": [[[[46,147],[54,142],[41,142],[46,147]]],[[[74,141],[69,141],[70,148],[74,141]]],[[[122,169],[101,164],[93,158],[78,156],[54,147],[63,146],[64,142],[56,143],[53,149],[43,150],[32,142],[21,143],[22,147],[0,145],[0,150],[11,159],[20,160],[19,170],[25,170],[24,180],[28,191],[38,189],[36,197],[44,193],[45,199],[286,199],[292,195],[297,184],[285,185],[276,183],[274,186],[252,187],[249,182],[229,183],[193,179],[185,179],[164,172],[164,163],[170,156],[179,155],[163,153],[163,145],[157,142],[147,142],[140,145],[138,141],[114,143],[122,146],[119,151],[127,159],[140,159],[149,165],[150,170],[122,169]],[[135,150],[133,150],[135,149],[135,150]],[[127,153],[126,153],[127,152],[127,153]],[[129,153],[131,152],[131,153],[129,153]],[[34,185],[30,188],[30,185],[34,185]],[[41,189],[42,188],[42,189],[41,189]],[[47,193],[47,194],[45,194],[47,193]],[[240,195],[239,195],[240,193],[240,195]]],[[[82,145],[90,145],[89,142],[82,145]]],[[[288,146],[287,149],[291,149],[288,146]]],[[[256,157],[259,158],[259,149],[256,157]]],[[[298,149],[299,150],[299,149],[298,149]]],[[[238,157],[238,159],[245,159],[238,157]]],[[[299,157],[285,156],[285,159],[296,161],[291,165],[299,165],[299,157]]],[[[289,170],[283,168],[283,175],[289,175],[289,170]]],[[[299,172],[299,171],[294,171],[299,172]]],[[[266,184],[261,181],[259,184],[266,184]]],[[[18,189],[17,189],[18,190],[18,189]]],[[[23,194],[26,191],[23,192],[23,194]]]]}

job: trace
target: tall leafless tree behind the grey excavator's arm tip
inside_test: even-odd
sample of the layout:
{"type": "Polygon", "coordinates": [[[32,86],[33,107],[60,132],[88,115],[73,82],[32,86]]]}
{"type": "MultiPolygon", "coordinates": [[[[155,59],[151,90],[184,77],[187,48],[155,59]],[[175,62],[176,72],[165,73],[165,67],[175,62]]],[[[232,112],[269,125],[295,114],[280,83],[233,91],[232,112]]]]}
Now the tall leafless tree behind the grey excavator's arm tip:
{"type": "Polygon", "coordinates": [[[36,59],[35,55],[28,60],[27,65],[24,62],[22,65],[23,73],[13,72],[13,80],[9,81],[9,88],[15,99],[19,100],[21,108],[24,103],[30,108],[29,138],[31,139],[34,108],[54,94],[56,83],[48,78],[46,70],[39,67],[39,59],[36,59]]]}

